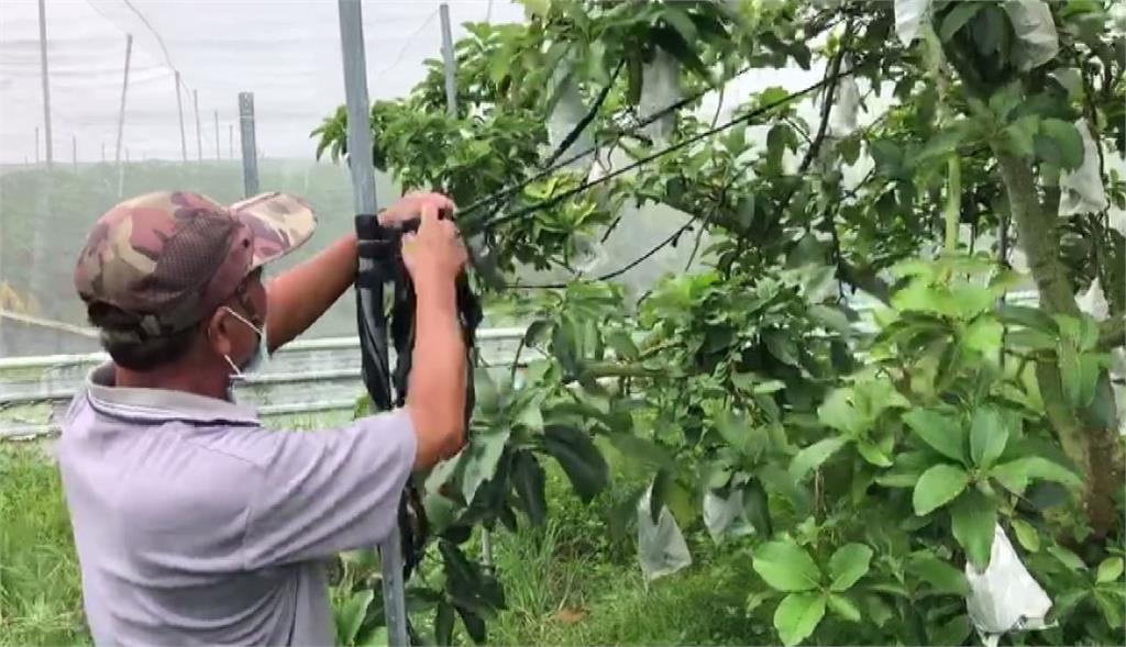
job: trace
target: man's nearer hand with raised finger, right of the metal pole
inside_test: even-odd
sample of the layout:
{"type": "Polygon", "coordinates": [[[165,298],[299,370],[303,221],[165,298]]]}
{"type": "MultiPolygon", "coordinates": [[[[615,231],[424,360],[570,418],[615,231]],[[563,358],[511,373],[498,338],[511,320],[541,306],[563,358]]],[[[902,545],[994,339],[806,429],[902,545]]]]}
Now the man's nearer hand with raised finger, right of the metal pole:
{"type": "Polygon", "coordinates": [[[422,201],[418,233],[403,236],[403,264],[417,286],[415,291],[420,284],[453,286],[468,260],[457,227],[438,218],[439,204],[434,199],[422,201]]]}

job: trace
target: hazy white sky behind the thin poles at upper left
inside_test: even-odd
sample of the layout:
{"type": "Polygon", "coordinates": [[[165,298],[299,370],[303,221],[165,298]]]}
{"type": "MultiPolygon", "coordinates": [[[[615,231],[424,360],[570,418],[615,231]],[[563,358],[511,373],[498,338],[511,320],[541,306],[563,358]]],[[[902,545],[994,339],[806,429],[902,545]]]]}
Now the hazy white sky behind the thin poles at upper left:
{"type": "MultiPolygon", "coordinates": [[[[448,2],[454,39],[466,21],[512,23],[508,0],[448,2]]],[[[368,93],[404,95],[439,59],[438,2],[364,0],[368,93]]],[[[312,131],[343,102],[337,0],[45,0],[55,160],[113,160],[126,34],[133,35],[123,153],[189,159],[238,154],[238,95],[254,93],[260,154],[312,160],[312,131]],[[195,95],[198,93],[199,136],[195,95]],[[218,120],[216,133],[215,122],[218,120]],[[233,137],[232,135],[233,126],[233,137]],[[217,135],[217,137],[216,137],[217,135]]],[[[0,2],[0,163],[45,158],[37,0],[0,2]],[[36,128],[39,128],[38,142],[36,128]]]]}

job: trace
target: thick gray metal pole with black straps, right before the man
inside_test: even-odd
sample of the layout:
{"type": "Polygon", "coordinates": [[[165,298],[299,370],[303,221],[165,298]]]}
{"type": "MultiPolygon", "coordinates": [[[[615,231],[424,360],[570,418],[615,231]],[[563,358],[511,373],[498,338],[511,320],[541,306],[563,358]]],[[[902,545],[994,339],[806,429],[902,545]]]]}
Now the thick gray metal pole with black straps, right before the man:
{"type": "MultiPolygon", "coordinates": [[[[367,97],[367,61],[364,56],[364,20],[360,0],[337,0],[340,17],[340,46],[343,54],[345,100],[348,106],[348,171],[357,214],[375,214],[375,169],[372,163],[370,102],[367,97]]],[[[360,269],[370,263],[360,260],[360,269]]],[[[403,595],[403,555],[399,528],[393,528],[379,545],[383,569],[383,602],[387,623],[387,645],[409,645],[406,601],[403,595]]]]}

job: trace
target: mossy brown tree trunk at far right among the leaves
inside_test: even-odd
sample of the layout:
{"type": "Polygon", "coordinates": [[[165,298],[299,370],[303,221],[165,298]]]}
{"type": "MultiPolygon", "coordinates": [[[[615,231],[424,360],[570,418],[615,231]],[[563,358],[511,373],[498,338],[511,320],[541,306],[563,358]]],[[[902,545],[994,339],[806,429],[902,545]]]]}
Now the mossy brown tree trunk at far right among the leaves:
{"type": "MultiPolygon", "coordinates": [[[[1009,196],[1009,206],[1017,224],[1018,242],[1028,258],[1028,267],[1039,290],[1040,307],[1048,314],[1079,316],[1079,305],[1060,261],[1060,234],[1056,213],[1039,201],[1036,181],[1029,162],[994,147],[1001,178],[1009,196]]],[[[1123,447],[1117,424],[1098,412],[1076,412],[1069,405],[1063,390],[1060,367],[1055,360],[1040,361],[1036,380],[1044,399],[1044,408],[1055,429],[1064,452],[1082,470],[1084,482],[1083,507],[1098,538],[1106,537],[1115,527],[1114,496],[1123,487],[1123,447]]],[[[1099,375],[1097,390],[1100,397],[1110,387],[1106,371],[1099,375]]],[[[1110,402],[1114,395],[1110,393],[1110,402]]],[[[1114,419],[1115,416],[1110,416],[1114,419]]]]}

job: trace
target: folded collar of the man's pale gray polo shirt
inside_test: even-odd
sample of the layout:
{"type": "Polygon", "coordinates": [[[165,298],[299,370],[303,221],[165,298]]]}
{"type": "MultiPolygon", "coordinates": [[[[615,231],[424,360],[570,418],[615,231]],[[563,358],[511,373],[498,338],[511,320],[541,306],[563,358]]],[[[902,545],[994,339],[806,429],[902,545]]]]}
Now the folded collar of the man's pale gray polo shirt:
{"type": "Polygon", "coordinates": [[[150,421],[182,420],[197,423],[259,424],[252,406],[167,388],[114,386],[114,363],[87,375],[87,397],[104,413],[150,421]]]}

